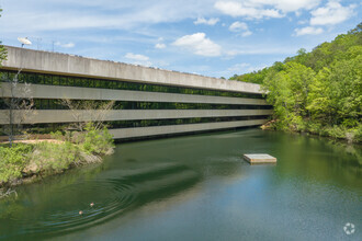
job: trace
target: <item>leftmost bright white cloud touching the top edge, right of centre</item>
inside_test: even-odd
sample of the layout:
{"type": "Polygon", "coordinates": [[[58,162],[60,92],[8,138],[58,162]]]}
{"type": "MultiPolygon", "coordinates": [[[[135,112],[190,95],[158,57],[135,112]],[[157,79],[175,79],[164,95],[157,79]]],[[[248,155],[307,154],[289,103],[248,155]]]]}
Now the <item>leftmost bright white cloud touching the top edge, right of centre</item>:
{"type": "Polygon", "coordinates": [[[276,9],[262,9],[253,4],[247,4],[234,1],[218,1],[214,5],[224,14],[230,16],[245,16],[248,19],[262,19],[262,18],[283,18],[284,15],[276,9]]]}

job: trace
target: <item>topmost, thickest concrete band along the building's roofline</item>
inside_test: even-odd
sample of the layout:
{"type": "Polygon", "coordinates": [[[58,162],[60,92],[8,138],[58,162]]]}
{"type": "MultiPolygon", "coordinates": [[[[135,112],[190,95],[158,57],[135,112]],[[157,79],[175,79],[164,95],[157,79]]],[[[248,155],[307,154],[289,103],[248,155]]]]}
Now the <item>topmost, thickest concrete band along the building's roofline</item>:
{"type": "Polygon", "coordinates": [[[79,56],[5,46],[3,69],[78,76],[97,79],[127,80],[173,87],[186,87],[245,93],[262,93],[259,84],[223,80],[192,73],[161,70],[79,56]]]}

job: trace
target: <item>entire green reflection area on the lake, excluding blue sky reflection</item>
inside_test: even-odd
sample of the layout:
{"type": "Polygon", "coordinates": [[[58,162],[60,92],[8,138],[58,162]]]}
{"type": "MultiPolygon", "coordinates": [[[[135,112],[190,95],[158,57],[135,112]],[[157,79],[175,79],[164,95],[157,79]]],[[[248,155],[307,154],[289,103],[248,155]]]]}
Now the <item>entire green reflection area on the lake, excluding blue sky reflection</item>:
{"type": "Polygon", "coordinates": [[[275,167],[260,167],[270,170],[262,174],[268,183],[289,184],[292,176],[301,187],[309,185],[310,179],[323,185],[333,182],[361,187],[359,146],[281,133],[262,133],[265,138],[261,141],[261,130],[245,133],[235,138],[225,134],[125,144],[102,164],[19,187],[18,199],[0,200],[0,238],[18,232],[34,239],[38,238],[35,232],[52,238],[97,226],[149,203],[195,195],[195,186],[202,186],[197,184],[203,180],[233,181],[252,174],[257,168],[245,163],[245,151],[270,151],[279,159],[275,167]]]}

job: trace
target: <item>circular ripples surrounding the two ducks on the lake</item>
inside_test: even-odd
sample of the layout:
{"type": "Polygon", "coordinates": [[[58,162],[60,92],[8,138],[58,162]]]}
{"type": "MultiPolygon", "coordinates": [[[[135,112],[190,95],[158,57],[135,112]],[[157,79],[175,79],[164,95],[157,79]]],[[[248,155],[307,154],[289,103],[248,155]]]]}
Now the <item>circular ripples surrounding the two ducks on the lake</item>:
{"type": "Polygon", "coordinates": [[[65,200],[66,206],[61,210],[54,211],[53,207],[52,210],[44,211],[35,223],[23,219],[25,232],[64,232],[99,223],[105,218],[118,215],[133,204],[136,198],[133,188],[131,183],[121,180],[117,184],[110,180],[95,180],[57,190],[55,196],[59,198],[65,192],[68,197],[73,193],[77,198],[65,200]],[[92,202],[93,207],[90,206],[92,202]]]}

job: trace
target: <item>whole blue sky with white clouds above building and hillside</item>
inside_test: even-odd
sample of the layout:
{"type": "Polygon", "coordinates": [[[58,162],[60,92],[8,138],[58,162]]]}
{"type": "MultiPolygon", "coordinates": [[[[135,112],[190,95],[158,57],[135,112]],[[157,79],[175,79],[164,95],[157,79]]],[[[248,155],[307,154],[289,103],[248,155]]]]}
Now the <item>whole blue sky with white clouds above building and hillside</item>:
{"type": "Polygon", "coordinates": [[[27,48],[230,77],[361,22],[355,0],[0,0],[0,39],[27,48]]]}

